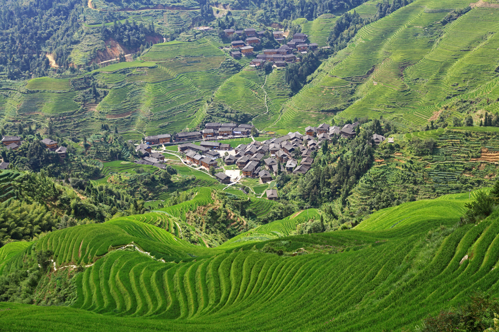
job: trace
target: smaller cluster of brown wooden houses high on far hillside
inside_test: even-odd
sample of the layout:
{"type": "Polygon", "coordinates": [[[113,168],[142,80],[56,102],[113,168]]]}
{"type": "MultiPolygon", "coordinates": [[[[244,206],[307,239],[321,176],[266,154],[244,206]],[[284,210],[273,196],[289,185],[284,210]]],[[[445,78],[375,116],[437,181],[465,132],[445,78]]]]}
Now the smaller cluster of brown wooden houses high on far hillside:
{"type": "MultiPolygon", "coordinates": [[[[260,44],[260,38],[263,37],[266,31],[257,32],[255,29],[249,28],[246,30],[226,29],[224,32],[227,37],[237,35],[239,38],[245,38],[244,41],[235,40],[231,42],[234,51],[231,51],[230,54],[233,58],[238,58],[254,55],[254,45],[260,44]]],[[[279,43],[284,41],[283,31],[273,31],[272,34],[275,41],[279,43]]],[[[306,43],[307,38],[308,36],[304,33],[295,33],[293,38],[285,45],[281,45],[276,49],[265,49],[261,54],[257,54],[251,60],[250,66],[262,67],[266,62],[270,62],[274,67],[279,68],[285,67],[288,63],[299,61],[295,53],[306,54],[309,50],[317,49],[318,45],[316,43],[306,43]]]]}

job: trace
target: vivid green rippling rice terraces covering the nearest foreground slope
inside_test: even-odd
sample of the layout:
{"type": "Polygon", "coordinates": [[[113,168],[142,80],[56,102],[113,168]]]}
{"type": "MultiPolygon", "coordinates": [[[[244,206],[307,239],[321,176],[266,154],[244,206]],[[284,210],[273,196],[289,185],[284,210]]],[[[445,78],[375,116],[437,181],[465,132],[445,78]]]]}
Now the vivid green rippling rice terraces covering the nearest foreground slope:
{"type": "Polygon", "coordinates": [[[79,331],[90,322],[93,331],[414,329],[478,288],[498,291],[498,216],[457,226],[460,207],[470,202],[458,196],[443,197],[440,203],[449,204],[427,219],[421,216],[435,208],[409,203],[398,212],[407,219],[393,227],[400,217],[392,209],[355,229],[226,252],[125,220],[55,231],[27,246],[11,243],[0,249],[1,274],[24,268],[46,248],[55,252],[57,269],[90,266],[77,274],[72,308],[1,303],[0,322],[11,331],[79,331]],[[126,245],[135,250],[120,249],[126,245]],[[272,250],[282,255],[266,253],[272,250]]]}

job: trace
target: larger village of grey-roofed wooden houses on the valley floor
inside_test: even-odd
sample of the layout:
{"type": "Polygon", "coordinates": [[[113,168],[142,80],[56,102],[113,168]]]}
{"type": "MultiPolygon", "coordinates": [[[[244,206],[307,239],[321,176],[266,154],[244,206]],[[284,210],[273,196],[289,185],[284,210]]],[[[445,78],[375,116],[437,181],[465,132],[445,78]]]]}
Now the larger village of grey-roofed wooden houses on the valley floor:
{"type": "MultiPolygon", "coordinates": [[[[251,136],[252,125],[206,123],[202,131],[180,132],[173,139],[169,134],[145,137],[145,142],[136,147],[141,159],[135,163],[165,169],[165,156],[160,150],[153,150],[153,147],[165,143],[181,143],[178,145],[178,152],[182,162],[193,168],[211,172],[221,184],[229,186],[241,183],[245,178],[258,179],[260,184],[266,184],[281,173],[307,173],[312,166],[314,152],[324,142],[335,142],[340,137],[353,138],[357,135],[358,125],[358,122],[354,122],[340,128],[322,123],[317,127],[306,127],[303,134],[290,132],[281,137],[258,141],[251,136]],[[238,137],[251,138],[252,141],[239,144],[235,148],[217,141],[238,137]]],[[[372,136],[374,144],[380,144],[385,139],[378,134],[372,136]]],[[[277,199],[277,190],[267,189],[266,197],[277,199]]]]}

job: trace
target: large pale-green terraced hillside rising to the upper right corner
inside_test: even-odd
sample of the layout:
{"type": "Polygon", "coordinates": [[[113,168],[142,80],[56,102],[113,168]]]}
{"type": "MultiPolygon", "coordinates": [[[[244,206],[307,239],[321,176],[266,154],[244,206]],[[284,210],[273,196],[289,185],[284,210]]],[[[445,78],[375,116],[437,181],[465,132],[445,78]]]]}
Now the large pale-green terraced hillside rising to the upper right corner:
{"type": "Polygon", "coordinates": [[[284,105],[277,125],[301,128],[307,124],[303,118],[317,123],[341,110],[338,116],[344,118],[383,115],[402,126],[422,125],[458,98],[487,100],[484,110],[496,112],[497,63],[490,59],[499,47],[498,8],[476,6],[441,23],[452,10],[468,5],[416,0],[363,27],[309,87],[284,105]],[[342,91],[337,79],[353,89],[342,91]]]}

